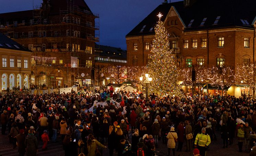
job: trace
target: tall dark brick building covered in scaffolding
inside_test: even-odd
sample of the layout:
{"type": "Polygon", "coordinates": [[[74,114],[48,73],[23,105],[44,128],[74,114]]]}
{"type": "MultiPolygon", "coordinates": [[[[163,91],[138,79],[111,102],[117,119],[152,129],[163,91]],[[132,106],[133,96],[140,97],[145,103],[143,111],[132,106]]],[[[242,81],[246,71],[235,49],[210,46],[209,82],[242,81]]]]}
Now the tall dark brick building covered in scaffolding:
{"type": "Polygon", "coordinates": [[[91,83],[98,17],[84,0],[43,0],[33,10],[0,14],[0,32],[32,51],[30,83],[72,86],[82,73],[91,83]]]}

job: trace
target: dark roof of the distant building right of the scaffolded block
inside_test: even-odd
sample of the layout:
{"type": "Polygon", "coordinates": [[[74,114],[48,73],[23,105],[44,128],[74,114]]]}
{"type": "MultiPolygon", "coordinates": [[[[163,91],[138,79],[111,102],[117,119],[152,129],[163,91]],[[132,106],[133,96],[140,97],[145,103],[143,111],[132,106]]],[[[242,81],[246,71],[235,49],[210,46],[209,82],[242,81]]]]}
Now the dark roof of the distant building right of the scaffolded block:
{"type": "Polygon", "coordinates": [[[95,49],[101,51],[97,53],[99,56],[120,58],[126,60],[127,51],[121,48],[102,46],[95,43],[95,49]]]}

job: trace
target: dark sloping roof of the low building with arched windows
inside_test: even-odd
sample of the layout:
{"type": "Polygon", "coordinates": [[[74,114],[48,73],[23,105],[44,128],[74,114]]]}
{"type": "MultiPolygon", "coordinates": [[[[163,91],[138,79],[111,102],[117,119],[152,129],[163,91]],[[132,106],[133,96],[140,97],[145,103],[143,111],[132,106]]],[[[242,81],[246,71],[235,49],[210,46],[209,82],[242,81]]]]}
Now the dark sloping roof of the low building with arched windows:
{"type": "Polygon", "coordinates": [[[7,36],[3,35],[2,33],[0,33],[0,48],[31,52],[30,50],[21,46],[19,43],[8,38],[7,36]]]}

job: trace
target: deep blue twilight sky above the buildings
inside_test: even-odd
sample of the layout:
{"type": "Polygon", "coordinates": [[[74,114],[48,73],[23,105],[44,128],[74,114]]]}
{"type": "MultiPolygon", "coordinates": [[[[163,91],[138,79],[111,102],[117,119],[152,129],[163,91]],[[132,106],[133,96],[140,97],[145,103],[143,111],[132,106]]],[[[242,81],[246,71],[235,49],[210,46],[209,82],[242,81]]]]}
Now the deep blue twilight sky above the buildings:
{"type": "MultiPolygon", "coordinates": [[[[164,0],[85,0],[100,15],[101,45],[126,49],[125,36],[164,0]]],[[[180,0],[171,0],[176,2],[180,0]]],[[[32,10],[43,0],[1,0],[0,13],[32,10]]],[[[170,2],[170,0],[168,0],[170,2]]],[[[97,21],[96,21],[97,22],[97,21]]]]}

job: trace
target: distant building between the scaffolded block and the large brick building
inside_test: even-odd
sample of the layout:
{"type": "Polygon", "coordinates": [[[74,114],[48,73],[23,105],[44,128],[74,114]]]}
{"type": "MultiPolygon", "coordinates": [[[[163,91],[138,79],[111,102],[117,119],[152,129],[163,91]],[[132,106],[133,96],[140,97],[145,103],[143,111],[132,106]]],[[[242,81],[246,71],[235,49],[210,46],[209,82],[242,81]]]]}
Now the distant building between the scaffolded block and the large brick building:
{"type": "Polygon", "coordinates": [[[106,86],[117,83],[108,71],[109,66],[126,66],[126,50],[116,47],[103,46],[95,43],[95,84],[106,86]],[[108,78],[108,79],[107,79],[108,78]]]}

